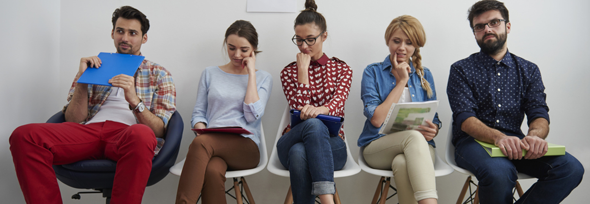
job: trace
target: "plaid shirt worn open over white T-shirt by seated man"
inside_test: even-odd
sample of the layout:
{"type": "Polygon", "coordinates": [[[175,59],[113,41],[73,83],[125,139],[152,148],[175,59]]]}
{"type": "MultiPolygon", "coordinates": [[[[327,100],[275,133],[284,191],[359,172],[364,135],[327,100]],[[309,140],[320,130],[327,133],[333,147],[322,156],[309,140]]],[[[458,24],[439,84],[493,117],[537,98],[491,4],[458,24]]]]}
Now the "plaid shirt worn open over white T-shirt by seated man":
{"type": "MultiPolygon", "coordinates": [[[[143,101],[146,107],[149,107],[149,110],[154,115],[162,119],[166,127],[172,113],[176,111],[176,89],[172,81],[172,75],[157,63],[144,59],[133,77],[135,77],[135,92],[137,96],[143,101]]],[[[74,82],[70,88],[70,94],[67,98],[68,104],[62,110],[64,113],[65,109],[70,105],[77,81],[78,77],[74,78],[74,82]]],[[[99,112],[100,106],[103,105],[104,101],[110,95],[111,87],[88,85],[88,117],[86,121],[81,123],[86,123],[99,112]]],[[[135,112],[133,114],[135,115],[135,112]]],[[[135,120],[137,121],[137,116],[135,120]]]]}

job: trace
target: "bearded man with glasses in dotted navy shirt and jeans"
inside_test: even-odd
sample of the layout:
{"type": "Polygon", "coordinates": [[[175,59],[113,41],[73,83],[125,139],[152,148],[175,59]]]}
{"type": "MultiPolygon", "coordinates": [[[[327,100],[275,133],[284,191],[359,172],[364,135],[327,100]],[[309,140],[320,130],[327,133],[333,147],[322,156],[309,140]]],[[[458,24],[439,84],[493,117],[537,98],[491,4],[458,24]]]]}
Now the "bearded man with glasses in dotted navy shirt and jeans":
{"type": "Polygon", "coordinates": [[[543,156],[549,133],[545,86],[535,63],[508,52],[508,17],[499,1],[479,1],[469,9],[481,51],[451,65],[447,95],[455,161],[476,175],[483,204],[512,203],[519,172],[539,180],[516,203],[559,203],[582,181],[584,167],[567,152],[543,156]],[[520,130],[525,114],[526,135],[520,130]],[[506,157],[490,157],[474,139],[493,143],[506,157]]]}

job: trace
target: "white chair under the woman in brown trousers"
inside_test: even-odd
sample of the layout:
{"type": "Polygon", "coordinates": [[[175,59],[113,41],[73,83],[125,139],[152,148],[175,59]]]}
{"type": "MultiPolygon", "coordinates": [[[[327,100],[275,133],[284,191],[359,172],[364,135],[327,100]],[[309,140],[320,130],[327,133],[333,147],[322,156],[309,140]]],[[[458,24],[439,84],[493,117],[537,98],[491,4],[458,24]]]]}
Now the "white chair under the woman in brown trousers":
{"type": "MultiPolygon", "coordinates": [[[[182,173],[182,167],[184,166],[185,159],[182,159],[181,162],[176,163],[176,165],[170,168],[170,173],[176,176],[180,176],[182,173]]],[[[225,193],[235,198],[238,204],[242,204],[242,198],[247,199],[246,201],[251,204],[255,204],[254,198],[252,197],[252,193],[250,192],[250,188],[248,188],[248,183],[246,183],[246,179],[244,176],[253,175],[254,173],[258,173],[264,169],[264,167],[268,163],[268,153],[266,151],[266,139],[264,138],[264,129],[262,124],[260,124],[260,162],[258,162],[258,166],[254,169],[244,169],[244,170],[228,170],[225,172],[225,178],[232,178],[234,179],[234,186],[230,189],[226,190],[225,193]],[[237,178],[240,178],[238,181],[237,178]],[[240,188],[241,187],[241,188],[240,188]],[[235,196],[231,195],[230,190],[234,189],[235,196]],[[244,196],[244,192],[246,197],[244,196]]],[[[199,196],[199,199],[201,196],[199,196]]],[[[198,202],[198,200],[197,200],[198,202]]]]}

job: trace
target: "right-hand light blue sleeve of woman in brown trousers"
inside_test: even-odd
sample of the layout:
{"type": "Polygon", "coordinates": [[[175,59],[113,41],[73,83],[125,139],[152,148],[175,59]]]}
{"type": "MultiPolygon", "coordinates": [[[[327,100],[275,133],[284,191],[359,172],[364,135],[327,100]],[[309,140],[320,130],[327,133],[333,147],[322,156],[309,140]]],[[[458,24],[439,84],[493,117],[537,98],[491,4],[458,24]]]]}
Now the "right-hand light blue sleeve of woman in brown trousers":
{"type": "Polygon", "coordinates": [[[254,122],[264,115],[264,108],[270,98],[270,93],[273,91],[273,78],[268,75],[261,82],[258,88],[258,101],[250,104],[243,103],[244,118],[247,122],[254,122]]]}

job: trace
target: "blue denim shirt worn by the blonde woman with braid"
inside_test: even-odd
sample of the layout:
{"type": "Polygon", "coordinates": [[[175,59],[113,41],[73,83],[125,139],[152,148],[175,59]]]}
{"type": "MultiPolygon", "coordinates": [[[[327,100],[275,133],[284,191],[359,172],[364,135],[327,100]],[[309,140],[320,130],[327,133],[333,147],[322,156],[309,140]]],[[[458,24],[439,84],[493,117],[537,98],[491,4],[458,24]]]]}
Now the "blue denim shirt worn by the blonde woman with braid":
{"type": "MultiPolygon", "coordinates": [[[[412,73],[409,73],[408,89],[412,96],[412,102],[437,100],[437,92],[434,88],[434,79],[432,78],[430,69],[423,67],[424,79],[430,83],[430,88],[432,89],[432,98],[428,98],[427,92],[422,89],[420,76],[416,73],[414,65],[410,62],[409,66],[412,69],[412,73]]],[[[363,132],[360,133],[357,143],[358,146],[368,145],[375,139],[385,136],[385,134],[379,134],[379,128],[376,128],[371,124],[371,118],[373,117],[373,113],[375,113],[375,108],[383,103],[389,95],[389,92],[395,88],[395,76],[391,73],[391,69],[391,61],[389,60],[389,55],[387,55],[385,61],[372,63],[368,65],[363,72],[363,79],[362,82],[360,82],[360,99],[363,100],[363,105],[365,106],[363,113],[367,119],[365,121],[363,132]]],[[[439,127],[441,126],[441,122],[438,119],[438,113],[435,113],[432,123],[439,127]]],[[[428,144],[436,147],[434,139],[428,141],[428,144]]]]}

